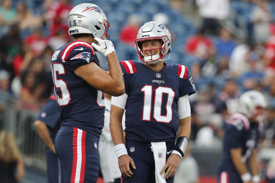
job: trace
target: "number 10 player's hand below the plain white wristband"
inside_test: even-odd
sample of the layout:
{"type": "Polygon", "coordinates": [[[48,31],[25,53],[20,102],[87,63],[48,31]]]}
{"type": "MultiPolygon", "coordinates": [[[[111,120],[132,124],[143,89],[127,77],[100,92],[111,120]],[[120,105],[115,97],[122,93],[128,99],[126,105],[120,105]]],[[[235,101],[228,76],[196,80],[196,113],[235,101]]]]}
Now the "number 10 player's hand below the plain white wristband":
{"type": "Polygon", "coordinates": [[[124,177],[131,177],[131,175],[133,175],[130,171],[129,164],[135,169],[134,161],[129,155],[124,154],[118,158],[119,170],[124,177]]]}

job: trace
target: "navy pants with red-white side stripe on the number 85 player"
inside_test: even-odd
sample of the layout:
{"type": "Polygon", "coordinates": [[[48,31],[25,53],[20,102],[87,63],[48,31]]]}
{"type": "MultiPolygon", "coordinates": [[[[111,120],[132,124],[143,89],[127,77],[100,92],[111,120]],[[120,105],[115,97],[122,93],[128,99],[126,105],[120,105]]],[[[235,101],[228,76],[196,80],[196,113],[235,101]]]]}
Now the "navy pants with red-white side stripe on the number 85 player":
{"type": "Polygon", "coordinates": [[[99,138],[89,132],[64,125],[58,131],[54,148],[62,162],[64,183],[95,183],[98,178],[99,138]]]}

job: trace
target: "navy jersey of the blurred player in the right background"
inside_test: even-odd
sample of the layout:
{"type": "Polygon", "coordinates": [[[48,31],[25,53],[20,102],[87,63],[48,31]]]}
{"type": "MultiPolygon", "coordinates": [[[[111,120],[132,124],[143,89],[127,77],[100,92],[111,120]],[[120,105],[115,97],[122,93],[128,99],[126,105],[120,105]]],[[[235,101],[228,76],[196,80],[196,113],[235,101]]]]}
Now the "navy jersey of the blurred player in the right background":
{"type": "Polygon", "coordinates": [[[260,137],[261,123],[250,123],[243,114],[233,114],[227,120],[225,135],[223,137],[223,152],[221,162],[218,166],[218,172],[236,172],[235,166],[231,159],[230,149],[242,148],[242,161],[250,157],[251,152],[257,147],[260,137]]]}

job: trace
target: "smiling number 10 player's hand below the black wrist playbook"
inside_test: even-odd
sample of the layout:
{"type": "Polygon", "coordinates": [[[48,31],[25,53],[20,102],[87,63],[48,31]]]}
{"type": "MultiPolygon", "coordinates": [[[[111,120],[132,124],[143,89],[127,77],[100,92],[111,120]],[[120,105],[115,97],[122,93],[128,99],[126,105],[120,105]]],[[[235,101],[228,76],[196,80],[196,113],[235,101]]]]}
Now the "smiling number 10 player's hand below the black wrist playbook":
{"type": "Polygon", "coordinates": [[[178,156],[177,154],[171,154],[169,158],[166,160],[166,164],[161,169],[160,175],[168,168],[164,175],[164,178],[169,178],[173,176],[176,173],[179,164],[180,156],[178,156]]]}

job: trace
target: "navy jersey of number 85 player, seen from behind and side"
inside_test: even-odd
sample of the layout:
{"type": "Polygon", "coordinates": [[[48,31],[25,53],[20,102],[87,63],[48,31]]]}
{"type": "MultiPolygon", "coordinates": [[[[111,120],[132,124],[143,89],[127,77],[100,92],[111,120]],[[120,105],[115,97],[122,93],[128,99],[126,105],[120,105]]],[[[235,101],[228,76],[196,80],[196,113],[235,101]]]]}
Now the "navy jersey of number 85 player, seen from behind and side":
{"type": "Polygon", "coordinates": [[[103,92],[74,73],[77,67],[91,62],[100,67],[93,47],[84,41],[73,41],[52,56],[52,77],[63,123],[99,137],[104,125],[103,92]]]}

